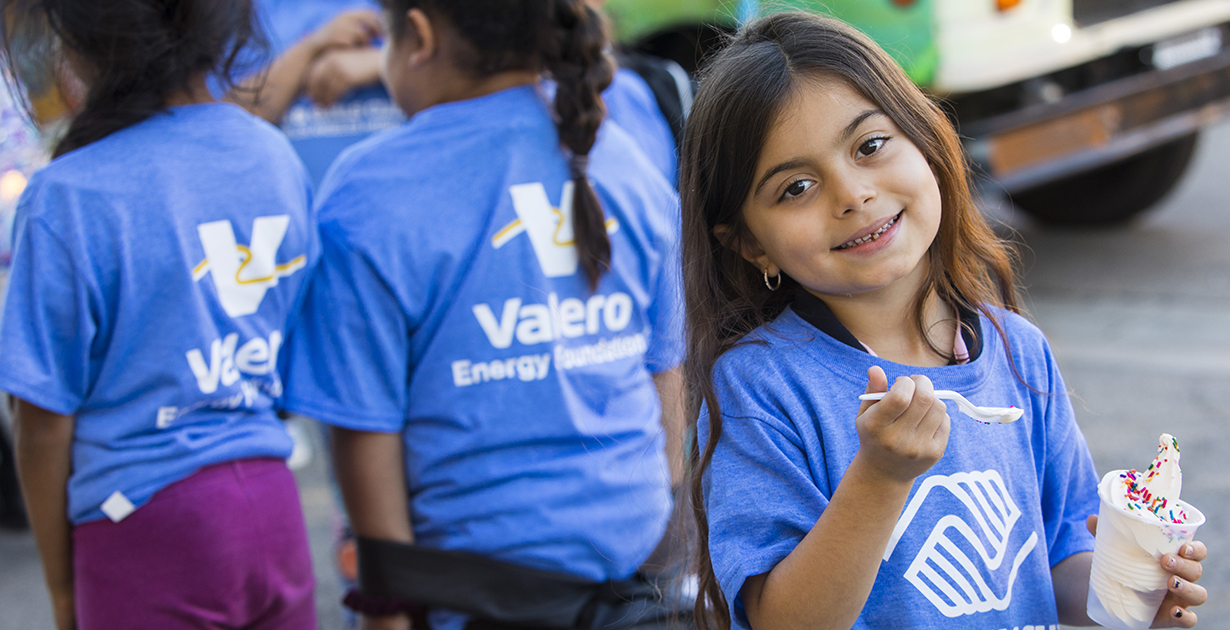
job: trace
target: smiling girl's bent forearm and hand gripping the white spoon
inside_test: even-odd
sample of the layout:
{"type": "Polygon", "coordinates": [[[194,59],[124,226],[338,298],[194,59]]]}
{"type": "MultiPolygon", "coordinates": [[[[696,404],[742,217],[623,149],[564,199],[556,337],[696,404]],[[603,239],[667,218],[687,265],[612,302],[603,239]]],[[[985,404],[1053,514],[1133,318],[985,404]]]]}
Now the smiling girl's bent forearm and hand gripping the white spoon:
{"type": "MultiPolygon", "coordinates": [[[[884,391],[879,368],[867,391],[884,391]]],[[[854,625],[867,603],[881,557],[914,479],[943,455],[948,413],[925,377],[900,378],[855,421],[859,452],[812,530],[768,573],[740,591],[755,630],[854,625]]]]}

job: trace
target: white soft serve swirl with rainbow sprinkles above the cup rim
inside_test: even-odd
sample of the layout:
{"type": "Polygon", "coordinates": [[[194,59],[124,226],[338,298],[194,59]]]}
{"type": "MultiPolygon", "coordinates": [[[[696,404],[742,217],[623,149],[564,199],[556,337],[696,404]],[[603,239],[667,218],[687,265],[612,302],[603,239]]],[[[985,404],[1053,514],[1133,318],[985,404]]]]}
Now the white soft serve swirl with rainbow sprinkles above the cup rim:
{"type": "Polygon", "coordinates": [[[1178,441],[1170,433],[1162,433],[1153,464],[1144,474],[1135,470],[1122,472],[1112,486],[1111,501],[1133,514],[1156,518],[1162,523],[1184,523],[1187,513],[1178,506],[1182,490],[1178,441]]]}

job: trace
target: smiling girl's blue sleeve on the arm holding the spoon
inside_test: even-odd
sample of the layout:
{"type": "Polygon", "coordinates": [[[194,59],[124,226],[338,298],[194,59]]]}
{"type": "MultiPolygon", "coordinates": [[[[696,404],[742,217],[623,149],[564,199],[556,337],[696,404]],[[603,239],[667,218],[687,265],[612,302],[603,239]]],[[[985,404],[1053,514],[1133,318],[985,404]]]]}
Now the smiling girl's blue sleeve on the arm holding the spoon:
{"type": "MultiPolygon", "coordinates": [[[[723,409],[722,436],[705,474],[705,509],[713,572],[732,619],[748,628],[738,598],[744,581],[790,555],[829,497],[812,479],[793,428],[768,416],[740,417],[744,411],[723,409]]],[[[707,439],[707,418],[701,421],[701,439],[707,439]]]]}

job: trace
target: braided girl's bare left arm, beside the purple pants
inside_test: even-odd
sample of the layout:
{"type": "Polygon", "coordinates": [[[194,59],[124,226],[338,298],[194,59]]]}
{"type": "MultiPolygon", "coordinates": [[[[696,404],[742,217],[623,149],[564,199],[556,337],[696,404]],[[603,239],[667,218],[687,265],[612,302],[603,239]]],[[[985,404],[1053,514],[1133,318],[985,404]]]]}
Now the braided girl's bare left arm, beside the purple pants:
{"type": "MultiPolygon", "coordinates": [[[[413,543],[400,433],[333,427],[333,468],[355,535],[413,543]]],[[[363,630],[410,630],[407,615],[363,618],[363,630]]]]}

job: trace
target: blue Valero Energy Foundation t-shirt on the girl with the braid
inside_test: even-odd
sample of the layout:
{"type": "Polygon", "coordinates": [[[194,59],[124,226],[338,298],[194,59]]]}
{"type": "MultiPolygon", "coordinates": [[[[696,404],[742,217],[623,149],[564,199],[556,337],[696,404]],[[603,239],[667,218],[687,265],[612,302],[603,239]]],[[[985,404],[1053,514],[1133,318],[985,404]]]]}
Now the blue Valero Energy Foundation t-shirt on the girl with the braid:
{"type": "Polygon", "coordinates": [[[417,544],[600,581],[663,534],[678,197],[614,126],[589,175],[611,240],[593,292],[534,86],[423,111],[326,177],[288,406],[402,433],[417,544]]]}

